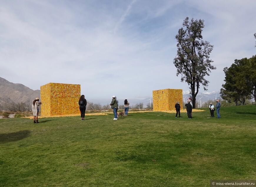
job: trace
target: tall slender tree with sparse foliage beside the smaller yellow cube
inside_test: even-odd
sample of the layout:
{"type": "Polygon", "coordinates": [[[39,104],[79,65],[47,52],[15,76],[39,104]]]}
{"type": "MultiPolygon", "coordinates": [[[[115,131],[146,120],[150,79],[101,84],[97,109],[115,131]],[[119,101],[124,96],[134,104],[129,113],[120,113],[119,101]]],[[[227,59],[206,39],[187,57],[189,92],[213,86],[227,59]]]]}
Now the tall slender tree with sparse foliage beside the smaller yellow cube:
{"type": "Polygon", "coordinates": [[[210,53],[213,45],[203,41],[202,28],[204,28],[204,20],[194,20],[189,22],[187,17],[176,35],[177,39],[177,56],[174,58],[174,65],[177,68],[177,76],[181,74],[181,81],[185,81],[190,86],[192,94],[193,108],[196,106],[196,96],[202,84],[204,90],[207,90],[209,81],[205,76],[209,76],[209,72],[216,67],[212,66],[210,53]]]}

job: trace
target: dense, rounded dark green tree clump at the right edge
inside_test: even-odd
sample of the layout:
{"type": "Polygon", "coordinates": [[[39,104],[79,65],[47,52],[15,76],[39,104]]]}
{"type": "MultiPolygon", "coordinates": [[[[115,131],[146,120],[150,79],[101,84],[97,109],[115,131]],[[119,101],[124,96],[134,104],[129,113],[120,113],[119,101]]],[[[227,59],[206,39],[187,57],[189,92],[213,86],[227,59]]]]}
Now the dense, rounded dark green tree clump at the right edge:
{"type": "Polygon", "coordinates": [[[244,105],[246,99],[255,98],[256,86],[256,59],[253,56],[250,59],[243,58],[235,60],[229,67],[224,68],[225,84],[222,84],[220,90],[221,97],[229,102],[235,102],[238,105],[244,105]]]}

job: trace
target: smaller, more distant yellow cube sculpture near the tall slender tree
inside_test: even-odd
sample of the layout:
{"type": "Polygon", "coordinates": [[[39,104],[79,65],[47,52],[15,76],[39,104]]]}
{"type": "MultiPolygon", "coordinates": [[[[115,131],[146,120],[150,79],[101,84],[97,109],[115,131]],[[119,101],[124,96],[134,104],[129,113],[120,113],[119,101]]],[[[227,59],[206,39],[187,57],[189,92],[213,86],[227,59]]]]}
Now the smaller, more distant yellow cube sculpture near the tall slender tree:
{"type": "Polygon", "coordinates": [[[175,104],[179,101],[181,110],[182,105],[182,89],[163,89],[153,91],[153,110],[175,110],[175,104]]]}

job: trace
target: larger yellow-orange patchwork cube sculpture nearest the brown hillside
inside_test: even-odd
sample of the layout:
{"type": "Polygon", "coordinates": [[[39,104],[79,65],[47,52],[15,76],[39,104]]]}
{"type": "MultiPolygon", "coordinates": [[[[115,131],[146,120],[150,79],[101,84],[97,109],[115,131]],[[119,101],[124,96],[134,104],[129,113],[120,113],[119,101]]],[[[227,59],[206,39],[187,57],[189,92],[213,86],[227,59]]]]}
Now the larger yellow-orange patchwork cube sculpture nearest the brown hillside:
{"type": "Polygon", "coordinates": [[[80,113],[80,93],[80,84],[48,83],[41,86],[41,116],[80,113]]]}

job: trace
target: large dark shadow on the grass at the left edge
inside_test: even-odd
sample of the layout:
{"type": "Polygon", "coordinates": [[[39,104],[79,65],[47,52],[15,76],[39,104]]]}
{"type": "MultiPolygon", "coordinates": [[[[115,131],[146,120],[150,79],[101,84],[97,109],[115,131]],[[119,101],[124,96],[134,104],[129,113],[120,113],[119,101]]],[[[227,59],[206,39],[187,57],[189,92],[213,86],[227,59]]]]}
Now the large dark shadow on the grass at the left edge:
{"type": "Polygon", "coordinates": [[[30,133],[30,130],[21,130],[18,132],[0,134],[0,143],[16,142],[29,137],[30,133]]]}

